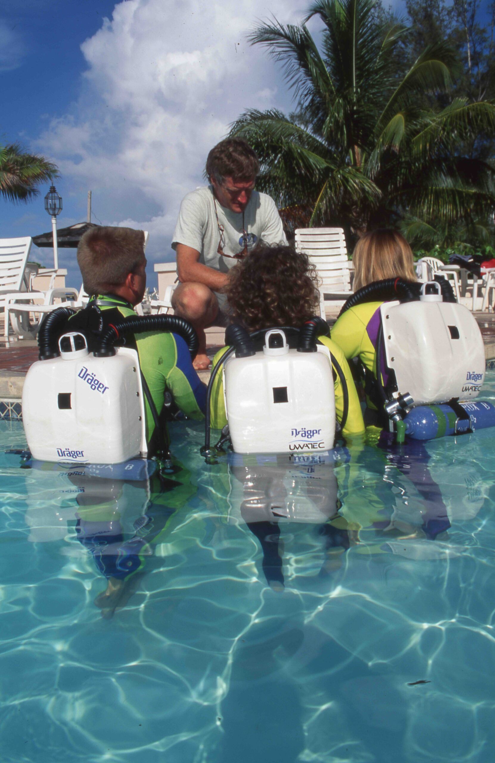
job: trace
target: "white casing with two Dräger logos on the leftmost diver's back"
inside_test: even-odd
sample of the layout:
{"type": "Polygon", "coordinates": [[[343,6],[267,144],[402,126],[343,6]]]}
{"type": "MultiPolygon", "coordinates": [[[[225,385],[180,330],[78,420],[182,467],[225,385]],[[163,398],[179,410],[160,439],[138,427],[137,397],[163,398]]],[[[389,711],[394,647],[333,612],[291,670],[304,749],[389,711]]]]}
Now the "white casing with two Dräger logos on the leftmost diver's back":
{"type": "Polygon", "coordinates": [[[146,455],[137,352],[120,347],[109,358],[70,354],[37,361],[27,372],[22,416],[33,458],[111,464],[146,455]]]}

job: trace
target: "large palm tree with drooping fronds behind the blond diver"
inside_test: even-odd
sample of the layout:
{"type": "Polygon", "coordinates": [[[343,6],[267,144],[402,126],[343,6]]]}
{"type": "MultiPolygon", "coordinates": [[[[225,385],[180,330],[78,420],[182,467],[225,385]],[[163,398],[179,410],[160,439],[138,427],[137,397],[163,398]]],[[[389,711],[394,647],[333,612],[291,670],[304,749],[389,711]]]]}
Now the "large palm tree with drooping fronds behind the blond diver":
{"type": "Polygon", "coordinates": [[[495,134],[491,102],[456,98],[435,111],[425,92],[448,92],[455,53],[429,46],[404,71],[407,27],[384,24],[374,0],[315,0],[301,26],[276,19],[249,39],[284,67],[296,111],[245,111],[230,134],[259,154],[259,188],[289,217],[356,233],[404,217],[452,223],[493,213],[493,167],[464,145],[495,134]],[[320,49],[306,22],[323,21],[320,49]]]}

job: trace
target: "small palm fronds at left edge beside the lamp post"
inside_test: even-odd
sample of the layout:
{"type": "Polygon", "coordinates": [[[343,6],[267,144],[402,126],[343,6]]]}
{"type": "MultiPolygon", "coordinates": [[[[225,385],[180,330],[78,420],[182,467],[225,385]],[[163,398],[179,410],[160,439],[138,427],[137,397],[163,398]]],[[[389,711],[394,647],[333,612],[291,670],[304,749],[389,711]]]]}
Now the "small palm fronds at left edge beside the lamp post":
{"type": "Polygon", "coordinates": [[[40,183],[57,177],[56,165],[43,156],[24,152],[18,143],[0,146],[0,195],[8,201],[29,201],[40,183]]]}

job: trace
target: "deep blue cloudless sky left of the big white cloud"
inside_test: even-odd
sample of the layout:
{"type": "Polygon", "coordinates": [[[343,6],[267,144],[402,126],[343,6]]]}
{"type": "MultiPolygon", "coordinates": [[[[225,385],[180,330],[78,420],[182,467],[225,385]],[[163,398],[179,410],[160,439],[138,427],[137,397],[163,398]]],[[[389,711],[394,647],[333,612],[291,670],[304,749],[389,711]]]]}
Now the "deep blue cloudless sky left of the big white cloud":
{"type": "MultiPolygon", "coordinates": [[[[114,0],[11,0],[8,15],[4,5],[0,10],[0,140],[40,151],[36,145],[40,133],[79,98],[86,68],[81,43],[98,31],[105,16],[111,17],[114,5],[114,0]]],[[[56,156],[50,159],[56,161],[56,156]]],[[[56,187],[63,196],[61,227],[85,220],[86,200],[71,195],[71,178],[63,176],[56,187]]],[[[0,236],[34,236],[50,230],[50,217],[43,209],[47,190],[48,185],[28,204],[0,200],[0,236]]],[[[31,251],[32,259],[53,265],[51,250],[33,247],[31,251]]],[[[76,253],[61,250],[60,255],[60,265],[66,267],[76,253]]]]}

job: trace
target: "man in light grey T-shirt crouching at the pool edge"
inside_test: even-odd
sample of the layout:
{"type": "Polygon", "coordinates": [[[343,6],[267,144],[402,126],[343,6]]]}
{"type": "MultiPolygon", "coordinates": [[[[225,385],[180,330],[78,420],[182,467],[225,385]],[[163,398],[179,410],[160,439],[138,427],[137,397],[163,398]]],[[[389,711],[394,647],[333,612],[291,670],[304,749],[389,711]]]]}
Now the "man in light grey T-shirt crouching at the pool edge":
{"type": "Polygon", "coordinates": [[[261,240],[287,243],[275,201],[254,190],[258,172],[258,157],[246,140],[222,140],[207,157],[210,185],[182,199],[172,240],[180,282],[172,307],[198,333],[195,369],[210,365],[204,329],[228,324],[230,268],[261,240]]]}

